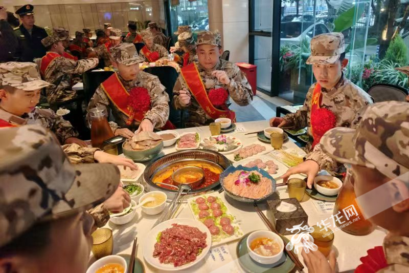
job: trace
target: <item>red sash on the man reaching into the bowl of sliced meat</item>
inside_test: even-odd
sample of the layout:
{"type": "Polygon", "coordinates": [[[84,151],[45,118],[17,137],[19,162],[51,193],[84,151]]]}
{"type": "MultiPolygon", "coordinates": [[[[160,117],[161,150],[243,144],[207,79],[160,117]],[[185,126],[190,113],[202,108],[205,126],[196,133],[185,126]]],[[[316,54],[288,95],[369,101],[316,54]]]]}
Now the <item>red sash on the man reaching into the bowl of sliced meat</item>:
{"type": "MultiPolygon", "coordinates": [[[[130,116],[130,110],[128,109],[128,97],[129,93],[122,85],[121,80],[118,78],[117,73],[113,73],[108,79],[101,83],[102,90],[109,97],[113,104],[124,113],[127,117],[130,116]]],[[[133,119],[142,122],[145,114],[141,112],[136,112],[133,119]]],[[[168,120],[163,127],[165,130],[173,130],[176,127],[168,120]]]]}

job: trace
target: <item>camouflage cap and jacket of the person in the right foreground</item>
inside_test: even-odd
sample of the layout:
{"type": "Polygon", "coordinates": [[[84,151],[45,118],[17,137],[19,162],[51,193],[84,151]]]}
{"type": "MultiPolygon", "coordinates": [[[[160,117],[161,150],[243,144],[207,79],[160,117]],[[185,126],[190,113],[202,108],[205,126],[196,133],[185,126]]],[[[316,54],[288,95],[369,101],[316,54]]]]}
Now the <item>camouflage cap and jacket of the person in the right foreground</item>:
{"type": "MultiPolygon", "coordinates": [[[[409,172],[408,120],[406,102],[375,103],[363,114],[356,129],[334,128],[325,133],[320,142],[322,150],[338,162],[377,170],[392,179],[387,183],[403,182],[406,188],[399,187],[399,192],[404,196],[404,191],[409,191],[409,181],[405,181],[409,172]]],[[[397,236],[396,231],[388,234],[383,241],[383,250],[388,267],[378,272],[409,272],[408,237],[397,236]]]]}

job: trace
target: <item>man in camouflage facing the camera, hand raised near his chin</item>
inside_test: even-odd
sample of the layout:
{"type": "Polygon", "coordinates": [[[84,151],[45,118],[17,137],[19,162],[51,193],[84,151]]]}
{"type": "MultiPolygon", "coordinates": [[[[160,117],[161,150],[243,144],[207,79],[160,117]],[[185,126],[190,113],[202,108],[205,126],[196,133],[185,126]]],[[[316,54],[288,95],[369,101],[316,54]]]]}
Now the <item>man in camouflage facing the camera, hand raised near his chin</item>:
{"type": "MultiPolygon", "coordinates": [[[[223,88],[239,106],[248,105],[253,99],[253,92],[245,75],[232,62],[219,59],[222,51],[220,33],[203,31],[197,35],[196,45],[198,61],[194,64],[197,66],[206,92],[223,88]]],[[[176,80],[173,94],[174,107],[177,110],[186,109],[189,114],[185,122],[187,127],[198,127],[214,122],[214,119],[192,96],[182,75],[179,75],[176,80]]],[[[228,101],[229,98],[226,98],[226,106],[230,105],[228,101]]]]}

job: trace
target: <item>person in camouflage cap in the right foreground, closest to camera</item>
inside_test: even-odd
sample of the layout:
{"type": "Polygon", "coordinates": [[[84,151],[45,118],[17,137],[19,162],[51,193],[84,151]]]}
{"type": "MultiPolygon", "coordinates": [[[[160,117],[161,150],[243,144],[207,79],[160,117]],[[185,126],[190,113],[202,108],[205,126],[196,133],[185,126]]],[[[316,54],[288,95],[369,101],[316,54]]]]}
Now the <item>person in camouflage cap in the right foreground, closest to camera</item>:
{"type": "MultiPolygon", "coordinates": [[[[354,192],[363,215],[378,207],[369,220],[389,230],[383,241],[388,265],[377,270],[381,273],[409,272],[408,121],[406,102],[379,102],[368,107],[356,129],[335,128],[321,138],[327,156],[352,167],[354,192]],[[389,201],[383,203],[384,200],[389,201]],[[385,207],[379,207],[379,202],[385,207]]],[[[332,258],[330,254],[332,268],[319,251],[314,254],[303,251],[302,256],[308,269],[314,268],[316,272],[335,269],[335,254],[332,258]]]]}

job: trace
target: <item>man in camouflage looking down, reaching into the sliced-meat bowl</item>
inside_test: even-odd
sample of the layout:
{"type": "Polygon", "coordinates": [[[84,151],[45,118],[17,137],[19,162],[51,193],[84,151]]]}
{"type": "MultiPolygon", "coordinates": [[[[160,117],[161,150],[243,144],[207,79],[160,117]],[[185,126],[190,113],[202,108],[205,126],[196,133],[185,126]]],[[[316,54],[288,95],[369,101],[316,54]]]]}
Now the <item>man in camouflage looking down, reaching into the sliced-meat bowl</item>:
{"type": "Polygon", "coordinates": [[[111,56],[115,60],[115,66],[118,67],[118,73],[114,74],[114,76],[118,76],[120,83],[127,92],[137,87],[147,89],[150,96],[150,110],[145,113],[141,123],[137,120],[132,120],[132,123],[128,126],[126,124],[128,116],[108,96],[111,90],[108,87],[104,90],[103,85],[105,82],[96,90],[88,104],[87,110],[89,111],[95,107],[104,107],[108,113],[111,110],[115,118],[115,122],[110,122],[112,132],[115,135],[122,135],[128,138],[133,136],[132,131],[136,129],[138,131],[152,132],[154,127],[163,127],[169,118],[169,96],[165,92],[165,87],[156,76],[139,71],[139,63],[143,59],[138,56],[135,46],[124,43],[113,47],[111,49],[111,56]]]}

